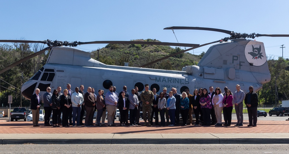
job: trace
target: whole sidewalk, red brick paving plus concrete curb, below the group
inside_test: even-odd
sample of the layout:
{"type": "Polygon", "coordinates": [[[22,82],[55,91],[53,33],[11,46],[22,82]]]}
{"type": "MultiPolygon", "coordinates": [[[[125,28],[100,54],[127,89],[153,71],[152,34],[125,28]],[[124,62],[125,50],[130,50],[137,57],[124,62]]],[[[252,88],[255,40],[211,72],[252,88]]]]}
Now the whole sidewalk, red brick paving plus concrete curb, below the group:
{"type": "MultiPolygon", "coordinates": [[[[142,121],[143,123],[143,121],[142,121]]],[[[259,120],[257,127],[135,126],[32,127],[32,122],[0,120],[1,144],[288,144],[289,121],[259,120]]],[[[119,122],[116,121],[116,125],[119,122]]]]}

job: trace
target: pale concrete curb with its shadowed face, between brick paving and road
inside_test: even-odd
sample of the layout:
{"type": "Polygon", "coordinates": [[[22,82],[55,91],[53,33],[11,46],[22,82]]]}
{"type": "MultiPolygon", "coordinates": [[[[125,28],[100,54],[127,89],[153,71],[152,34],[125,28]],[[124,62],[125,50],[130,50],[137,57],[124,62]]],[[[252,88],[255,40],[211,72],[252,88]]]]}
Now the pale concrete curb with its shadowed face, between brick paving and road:
{"type": "Polygon", "coordinates": [[[0,144],[288,144],[289,133],[0,134],[0,144]]]}

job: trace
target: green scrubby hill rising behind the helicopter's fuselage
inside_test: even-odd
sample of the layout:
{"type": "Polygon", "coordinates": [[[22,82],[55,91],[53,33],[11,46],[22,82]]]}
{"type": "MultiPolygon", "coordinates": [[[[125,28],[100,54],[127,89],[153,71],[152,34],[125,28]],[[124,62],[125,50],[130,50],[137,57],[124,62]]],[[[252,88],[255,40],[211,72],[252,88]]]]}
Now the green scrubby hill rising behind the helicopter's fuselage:
{"type": "MultiPolygon", "coordinates": [[[[153,41],[158,40],[134,40],[134,41],[153,41]]],[[[172,53],[181,51],[179,47],[171,48],[162,45],[145,45],[145,44],[108,44],[99,50],[99,61],[108,65],[123,66],[124,62],[129,62],[131,67],[139,67],[159,58],[165,57],[172,53]]],[[[91,57],[97,60],[97,51],[92,51],[91,57]]],[[[201,59],[200,55],[182,53],[166,60],[162,60],[147,68],[181,70],[184,66],[194,65],[201,59]]]]}

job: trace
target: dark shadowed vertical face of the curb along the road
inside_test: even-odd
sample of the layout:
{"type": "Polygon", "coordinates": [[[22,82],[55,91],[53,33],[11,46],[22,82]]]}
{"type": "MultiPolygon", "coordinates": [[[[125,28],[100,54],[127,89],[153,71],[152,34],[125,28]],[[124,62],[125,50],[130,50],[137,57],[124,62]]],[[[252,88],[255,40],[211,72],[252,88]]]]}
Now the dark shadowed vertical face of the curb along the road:
{"type": "Polygon", "coordinates": [[[235,138],[235,139],[2,139],[1,144],[288,144],[289,138],[235,138]]]}

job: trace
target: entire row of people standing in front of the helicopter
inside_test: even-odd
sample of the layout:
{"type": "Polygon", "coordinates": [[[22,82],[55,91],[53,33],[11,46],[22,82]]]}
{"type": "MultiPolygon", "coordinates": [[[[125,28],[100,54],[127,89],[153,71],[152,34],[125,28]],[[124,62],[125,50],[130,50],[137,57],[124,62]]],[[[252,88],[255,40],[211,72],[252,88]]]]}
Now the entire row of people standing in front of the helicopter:
{"type": "MultiPolygon", "coordinates": [[[[192,111],[194,111],[196,122],[194,125],[216,125],[222,126],[222,111],[224,116],[224,125],[231,125],[231,115],[233,104],[235,105],[237,124],[235,126],[243,126],[243,100],[248,108],[249,125],[256,127],[257,123],[257,105],[258,96],[253,91],[253,86],[249,87],[249,93],[244,96],[244,92],[240,90],[240,85],[236,85],[234,95],[227,87],[222,93],[220,88],[209,87],[195,89],[193,95],[190,90],[186,89],[182,94],[177,93],[176,88],[171,88],[167,93],[167,88],[163,88],[163,92],[156,94],[156,89],[149,90],[149,85],[145,84],[145,90],[138,92],[138,87],[127,91],[127,87],[123,86],[123,91],[119,94],[116,92],[115,86],[110,86],[109,91],[104,95],[103,90],[98,90],[95,94],[94,88],[88,87],[84,93],[84,86],[76,87],[75,92],[71,90],[71,85],[67,84],[63,94],[61,87],[53,90],[47,87],[47,92],[43,94],[44,110],[45,110],[45,126],[53,127],[69,127],[69,126],[104,126],[106,111],[107,125],[109,127],[116,126],[114,117],[116,108],[120,112],[121,126],[137,126],[140,125],[140,110],[143,113],[143,126],[153,125],[153,115],[155,115],[155,125],[159,126],[178,126],[180,121],[179,113],[183,119],[183,126],[192,124],[192,111]],[[85,124],[82,123],[86,112],[85,124]],[[50,125],[50,116],[52,114],[52,125],[50,125]],[[94,112],[97,112],[95,124],[93,123],[94,112]],[[62,113],[62,124],[61,124],[62,113]],[[159,114],[160,113],[160,123],[159,114]],[[129,114],[129,119],[128,119],[129,114]],[[201,116],[199,116],[201,115],[201,116]],[[188,117],[189,116],[189,117],[188,117]],[[128,123],[129,120],[129,123],[128,123]],[[76,121],[76,123],[75,123],[76,121]],[[201,123],[200,123],[201,122],[201,123]]],[[[35,90],[35,94],[31,97],[31,110],[33,117],[33,126],[38,127],[39,110],[41,107],[41,97],[39,89],[35,90]]]]}

